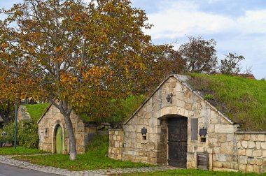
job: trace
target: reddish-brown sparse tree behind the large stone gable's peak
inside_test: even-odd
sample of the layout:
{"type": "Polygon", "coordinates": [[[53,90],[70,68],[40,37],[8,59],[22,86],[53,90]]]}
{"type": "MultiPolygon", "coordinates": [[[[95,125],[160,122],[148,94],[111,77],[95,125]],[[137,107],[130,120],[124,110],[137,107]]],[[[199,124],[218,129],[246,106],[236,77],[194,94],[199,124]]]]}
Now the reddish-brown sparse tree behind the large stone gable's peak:
{"type": "Polygon", "coordinates": [[[189,42],[179,47],[179,54],[186,61],[185,72],[212,73],[218,63],[216,41],[202,36],[188,37],[189,42]]]}

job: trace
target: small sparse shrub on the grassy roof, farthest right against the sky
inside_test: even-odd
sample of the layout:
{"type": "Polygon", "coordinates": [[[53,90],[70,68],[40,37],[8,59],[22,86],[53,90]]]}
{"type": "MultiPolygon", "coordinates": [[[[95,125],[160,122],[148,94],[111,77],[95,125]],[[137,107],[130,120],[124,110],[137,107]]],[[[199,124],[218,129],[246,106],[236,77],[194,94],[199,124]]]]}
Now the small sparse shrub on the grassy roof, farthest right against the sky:
{"type": "Polygon", "coordinates": [[[225,56],[225,59],[221,59],[221,64],[218,66],[218,71],[225,75],[238,74],[241,71],[239,62],[244,59],[245,58],[241,55],[229,52],[229,54],[225,56]]]}

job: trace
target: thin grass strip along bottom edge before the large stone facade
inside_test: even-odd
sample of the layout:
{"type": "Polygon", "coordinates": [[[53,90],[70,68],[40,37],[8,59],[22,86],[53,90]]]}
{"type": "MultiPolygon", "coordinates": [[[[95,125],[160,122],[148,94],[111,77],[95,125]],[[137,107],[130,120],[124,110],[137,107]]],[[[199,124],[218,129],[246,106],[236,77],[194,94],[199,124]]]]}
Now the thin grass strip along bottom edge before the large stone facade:
{"type": "Polygon", "coordinates": [[[255,174],[255,173],[233,173],[233,172],[215,172],[215,171],[207,171],[207,170],[195,170],[195,169],[177,169],[177,170],[167,170],[167,171],[155,171],[155,172],[148,172],[148,173],[134,173],[128,174],[128,176],[141,176],[141,175],[152,175],[152,176],[161,176],[161,175],[182,175],[182,176],[190,176],[190,175],[197,175],[197,176],[256,176],[256,175],[266,175],[266,174],[255,174]]]}

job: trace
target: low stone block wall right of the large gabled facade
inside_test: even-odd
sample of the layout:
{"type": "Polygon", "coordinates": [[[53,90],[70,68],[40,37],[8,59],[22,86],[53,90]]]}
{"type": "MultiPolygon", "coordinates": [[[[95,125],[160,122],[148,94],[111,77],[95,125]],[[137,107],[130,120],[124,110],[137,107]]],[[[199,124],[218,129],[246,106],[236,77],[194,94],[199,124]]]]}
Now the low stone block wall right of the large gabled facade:
{"type": "Polygon", "coordinates": [[[266,173],[266,132],[237,132],[239,170],[266,173]]]}

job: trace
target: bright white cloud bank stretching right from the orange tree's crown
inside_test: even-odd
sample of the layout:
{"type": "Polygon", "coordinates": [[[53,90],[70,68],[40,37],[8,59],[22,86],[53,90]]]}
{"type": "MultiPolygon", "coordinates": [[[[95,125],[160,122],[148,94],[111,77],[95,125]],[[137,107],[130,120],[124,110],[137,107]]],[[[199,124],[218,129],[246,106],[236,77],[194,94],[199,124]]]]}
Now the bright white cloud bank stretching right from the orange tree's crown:
{"type": "Polygon", "coordinates": [[[179,38],[186,35],[235,32],[254,34],[266,32],[266,10],[249,10],[241,17],[219,15],[199,10],[193,1],[169,1],[158,13],[148,14],[154,25],[145,32],[156,38],[179,38]]]}

